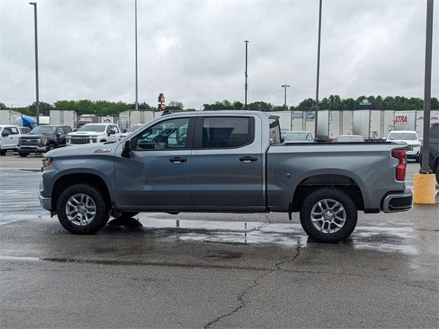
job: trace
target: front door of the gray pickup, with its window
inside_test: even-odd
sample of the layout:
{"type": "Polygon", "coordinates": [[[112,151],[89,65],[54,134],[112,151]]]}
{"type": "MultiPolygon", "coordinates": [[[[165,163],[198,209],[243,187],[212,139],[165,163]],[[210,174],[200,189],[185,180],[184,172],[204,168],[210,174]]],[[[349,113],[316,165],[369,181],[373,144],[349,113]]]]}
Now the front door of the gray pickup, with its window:
{"type": "MultiPolygon", "coordinates": [[[[115,154],[121,205],[141,209],[191,206],[191,143],[195,118],[168,119],[133,138],[130,158],[115,154]]],[[[126,208],[129,209],[129,208],[126,208]]]]}

